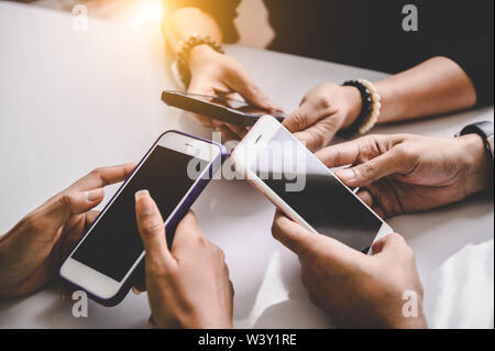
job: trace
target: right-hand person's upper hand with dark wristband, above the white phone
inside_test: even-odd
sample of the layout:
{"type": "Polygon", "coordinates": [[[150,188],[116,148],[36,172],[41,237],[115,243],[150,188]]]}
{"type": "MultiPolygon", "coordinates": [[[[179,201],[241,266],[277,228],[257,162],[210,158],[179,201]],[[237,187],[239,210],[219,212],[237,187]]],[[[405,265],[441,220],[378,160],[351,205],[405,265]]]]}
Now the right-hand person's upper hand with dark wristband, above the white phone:
{"type": "MultiPolygon", "coordinates": [[[[488,186],[490,158],[475,135],[369,135],[316,156],[380,216],[421,211],[461,200],[488,186]]],[[[493,179],[492,179],[493,182],[493,179]]]]}

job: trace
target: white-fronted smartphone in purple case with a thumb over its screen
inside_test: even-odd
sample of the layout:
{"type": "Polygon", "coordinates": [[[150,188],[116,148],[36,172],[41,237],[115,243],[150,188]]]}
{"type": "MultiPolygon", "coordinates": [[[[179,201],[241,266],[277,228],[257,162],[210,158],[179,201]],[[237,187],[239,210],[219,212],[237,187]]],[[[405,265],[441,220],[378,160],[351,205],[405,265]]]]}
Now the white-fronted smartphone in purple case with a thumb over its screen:
{"type": "Polygon", "coordinates": [[[176,226],[224,155],[220,144],[177,131],[163,133],[87,230],[59,275],[105,306],[119,304],[144,257],[135,191],[150,190],[164,218],[170,246],[176,226]]]}

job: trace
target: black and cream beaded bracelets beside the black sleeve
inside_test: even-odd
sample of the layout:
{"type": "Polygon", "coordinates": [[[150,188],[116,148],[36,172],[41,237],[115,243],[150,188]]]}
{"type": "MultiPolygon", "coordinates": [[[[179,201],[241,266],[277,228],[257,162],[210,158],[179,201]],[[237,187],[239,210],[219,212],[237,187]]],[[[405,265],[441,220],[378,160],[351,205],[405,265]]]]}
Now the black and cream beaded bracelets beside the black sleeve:
{"type": "Polygon", "coordinates": [[[362,108],[361,112],[351,127],[339,131],[339,135],[351,138],[355,134],[364,134],[370,131],[378,121],[382,102],[380,94],[370,80],[358,79],[348,80],[342,86],[351,86],[358,88],[361,94],[362,108]]]}

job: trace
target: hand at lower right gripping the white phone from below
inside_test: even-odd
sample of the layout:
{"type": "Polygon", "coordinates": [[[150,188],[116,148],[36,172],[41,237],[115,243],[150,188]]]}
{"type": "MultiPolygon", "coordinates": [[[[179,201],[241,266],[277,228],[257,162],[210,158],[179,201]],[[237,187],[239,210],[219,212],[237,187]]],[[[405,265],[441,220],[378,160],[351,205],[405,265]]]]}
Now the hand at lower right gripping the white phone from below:
{"type": "Polygon", "coordinates": [[[399,234],[376,241],[369,256],[312,233],[278,211],[272,233],[299,256],[301,281],[311,301],[341,327],[426,328],[415,255],[399,234]],[[405,308],[405,292],[414,294],[417,306],[405,308]]]}

